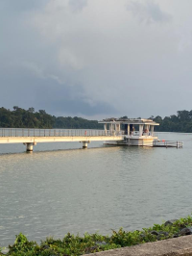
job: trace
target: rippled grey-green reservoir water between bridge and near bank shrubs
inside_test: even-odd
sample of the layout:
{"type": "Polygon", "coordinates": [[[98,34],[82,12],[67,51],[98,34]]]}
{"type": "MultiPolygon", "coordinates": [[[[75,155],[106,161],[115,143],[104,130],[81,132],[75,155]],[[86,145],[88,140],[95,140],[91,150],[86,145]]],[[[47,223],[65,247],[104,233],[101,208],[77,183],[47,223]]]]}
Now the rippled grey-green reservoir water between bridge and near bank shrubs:
{"type": "Polygon", "coordinates": [[[48,236],[127,231],[192,212],[192,134],[158,133],[182,149],[92,142],[0,144],[0,246],[22,232],[48,236]]]}

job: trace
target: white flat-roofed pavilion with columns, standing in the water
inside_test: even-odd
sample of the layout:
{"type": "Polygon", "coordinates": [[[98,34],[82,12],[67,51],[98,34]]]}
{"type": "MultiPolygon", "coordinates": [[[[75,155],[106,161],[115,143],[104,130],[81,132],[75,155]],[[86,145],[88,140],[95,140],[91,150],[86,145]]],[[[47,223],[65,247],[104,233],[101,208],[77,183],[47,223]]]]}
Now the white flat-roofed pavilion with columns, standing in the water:
{"type": "Polygon", "coordinates": [[[159,125],[151,119],[141,118],[108,118],[100,121],[104,124],[104,130],[111,135],[124,134],[124,141],[106,141],[107,144],[123,144],[136,146],[153,146],[157,140],[154,127],[159,125]]]}

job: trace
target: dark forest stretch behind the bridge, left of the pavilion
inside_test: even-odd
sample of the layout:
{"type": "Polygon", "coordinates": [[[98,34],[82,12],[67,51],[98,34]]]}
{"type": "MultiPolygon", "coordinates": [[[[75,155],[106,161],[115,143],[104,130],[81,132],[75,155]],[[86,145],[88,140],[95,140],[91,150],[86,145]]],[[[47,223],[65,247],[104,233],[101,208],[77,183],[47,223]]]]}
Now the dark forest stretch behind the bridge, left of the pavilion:
{"type": "Polygon", "coordinates": [[[6,128],[63,128],[63,129],[103,129],[97,120],[86,120],[82,117],[56,117],[44,110],[35,112],[34,108],[28,110],[17,106],[13,110],[0,108],[0,127],[6,128]]]}

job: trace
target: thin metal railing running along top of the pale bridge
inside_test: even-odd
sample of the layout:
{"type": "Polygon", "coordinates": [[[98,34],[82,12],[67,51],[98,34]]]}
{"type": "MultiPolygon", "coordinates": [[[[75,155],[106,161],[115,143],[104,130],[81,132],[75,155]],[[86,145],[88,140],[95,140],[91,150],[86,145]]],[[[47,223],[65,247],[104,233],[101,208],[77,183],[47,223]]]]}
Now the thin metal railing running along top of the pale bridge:
{"type": "Polygon", "coordinates": [[[27,129],[0,128],[1,137],[90,137],[90,136],[121,136],[124,131],[105,131],[92,129],[27,129]]]}

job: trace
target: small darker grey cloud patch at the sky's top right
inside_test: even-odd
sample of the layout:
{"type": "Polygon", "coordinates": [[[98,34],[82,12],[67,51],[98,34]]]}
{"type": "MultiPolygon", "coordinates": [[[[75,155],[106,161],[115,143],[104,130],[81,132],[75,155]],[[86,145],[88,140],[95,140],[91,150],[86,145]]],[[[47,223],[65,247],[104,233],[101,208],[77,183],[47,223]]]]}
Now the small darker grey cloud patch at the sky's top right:
{"type": "Polygon", "coordinates": [[[139,2],[132,1],[128,7],[128,11],[140,21],[146,24],[151,23],[162,23],[171,20],[171,15],[169,13],[163,12],[160,7],[152,1],[139,2]]]}

